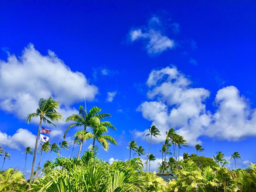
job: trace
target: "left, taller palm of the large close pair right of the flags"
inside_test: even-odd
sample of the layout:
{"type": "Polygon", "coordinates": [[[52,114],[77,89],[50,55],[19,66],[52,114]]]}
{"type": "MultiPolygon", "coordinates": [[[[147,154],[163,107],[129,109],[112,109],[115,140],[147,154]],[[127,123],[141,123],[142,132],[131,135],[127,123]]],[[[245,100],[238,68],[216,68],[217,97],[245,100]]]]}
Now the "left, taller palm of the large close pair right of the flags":
{"type": "MultiPolygon", "coordinates": [[[[70,130],[70,128],[72,127],[83,127],[84,128],[84,131],[86,131],[86,128],[88,126],[91,126],[90,125],[90,119],[92,117],[98,117],[100,120],[104,119],[104,118],[107,118],[107,117],[111,117],[110,114],[108,113],[102,113],[102,114],[99,114],[99,112],[101,111],[100,108],[98,107],[93,107],[89,113],[87,114],[86,112],[86,108],[84,109],[83,106],[80,106],[79,107],[79,114],[73,114],[72,116],[69,116],[67,119],[66,119],[66,122],[69,122],[69,121],[73,121],[75,123],[71,124],[70,126],[68,126],[68,128],[66,129],[66,131],[64,132],[64,136],[63,138],[65,139],[66,138],[66,134],[68,132],[68,130],[70,130]]],[[[85,134],[85,133],[84,133],[85,134]]],[[[83,145],[83,139],[81,139],[81,144],[80,144],[80,148],[79,148],[79,151],[78,151],[78,158],[80,157],[80,153],[81,153],[81,150],[82,150],[82,145],[83,145]]]]}

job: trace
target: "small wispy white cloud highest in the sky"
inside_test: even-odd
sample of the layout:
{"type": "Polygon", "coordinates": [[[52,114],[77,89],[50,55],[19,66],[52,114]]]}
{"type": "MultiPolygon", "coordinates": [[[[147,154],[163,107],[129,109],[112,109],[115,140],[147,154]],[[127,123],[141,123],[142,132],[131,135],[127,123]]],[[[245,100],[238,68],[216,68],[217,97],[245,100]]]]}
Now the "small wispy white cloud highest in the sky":
{"type": "MultiPolygon", "coordinates": [[[[178,32],[178,24],[174,24],[175,31],[178,32]]],[[[174,40],[164,35],[164,30],[160,18],[154,16],[148,22],[148,27],[141,27],[130,30],[130,40],[142,40],[146,42],[146,49],[149,54],[161,53],[174,48],[174,40]]]]}

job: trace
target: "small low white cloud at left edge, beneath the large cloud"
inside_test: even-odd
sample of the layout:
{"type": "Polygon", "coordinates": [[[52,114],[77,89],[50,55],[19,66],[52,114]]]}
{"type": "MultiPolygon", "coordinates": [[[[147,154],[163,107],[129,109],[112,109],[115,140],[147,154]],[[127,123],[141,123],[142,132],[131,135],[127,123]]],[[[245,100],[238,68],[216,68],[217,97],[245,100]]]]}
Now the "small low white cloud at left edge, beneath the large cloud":
{"type": "Polygon", "coordinates": [[[8,146],[11,149],[20,150],[21,146],[34,148],[36,144],[36,135],[27,129],[18,129],[12,136],[0,131],[0,146],[8,146]]]}

